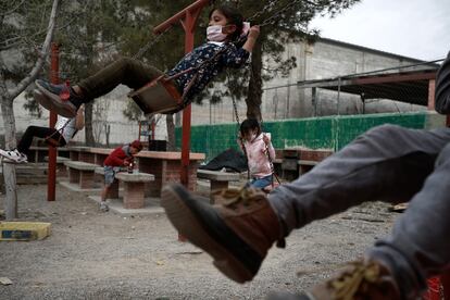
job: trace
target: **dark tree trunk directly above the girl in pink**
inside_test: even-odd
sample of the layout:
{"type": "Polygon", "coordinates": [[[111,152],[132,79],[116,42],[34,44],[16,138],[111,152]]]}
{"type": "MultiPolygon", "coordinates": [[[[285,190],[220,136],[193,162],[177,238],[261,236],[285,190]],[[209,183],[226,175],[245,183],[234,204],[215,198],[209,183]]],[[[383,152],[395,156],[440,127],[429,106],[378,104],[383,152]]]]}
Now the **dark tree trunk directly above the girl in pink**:
{"type": "Polygon", "coordinates": [[[257,118],[261,121],[261,96],[262,96],[262,53],[261,53],[261,41],[254,45],[251,63],[250,63],[250,83],[247,92],[247,117],[257,118]]]}

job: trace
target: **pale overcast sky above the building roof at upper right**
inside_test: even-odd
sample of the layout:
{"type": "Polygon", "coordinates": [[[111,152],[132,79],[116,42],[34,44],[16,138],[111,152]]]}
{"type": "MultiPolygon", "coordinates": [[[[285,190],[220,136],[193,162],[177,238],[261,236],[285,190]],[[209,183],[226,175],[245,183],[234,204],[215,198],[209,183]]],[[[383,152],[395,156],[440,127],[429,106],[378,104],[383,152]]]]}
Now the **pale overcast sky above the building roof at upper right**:
{"type": "Polygon", "coordinates": [[[450,0],[361,0],[311,26],[322,37],[430,61],[450,50],[450,0]]]}

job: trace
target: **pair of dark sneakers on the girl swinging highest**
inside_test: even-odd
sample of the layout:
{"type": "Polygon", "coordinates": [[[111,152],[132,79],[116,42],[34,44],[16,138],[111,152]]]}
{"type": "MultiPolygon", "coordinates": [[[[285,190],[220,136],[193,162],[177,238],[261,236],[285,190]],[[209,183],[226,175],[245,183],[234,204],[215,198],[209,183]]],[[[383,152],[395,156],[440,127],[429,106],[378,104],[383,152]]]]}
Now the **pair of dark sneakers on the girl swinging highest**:
{"type": "Polygon", "coordinates": [[[68,85],[52,85],[41,79],[35,80],[36,101],[49,111],[65,117],[75,117],[84,99],[74,93],[68,85]]]}

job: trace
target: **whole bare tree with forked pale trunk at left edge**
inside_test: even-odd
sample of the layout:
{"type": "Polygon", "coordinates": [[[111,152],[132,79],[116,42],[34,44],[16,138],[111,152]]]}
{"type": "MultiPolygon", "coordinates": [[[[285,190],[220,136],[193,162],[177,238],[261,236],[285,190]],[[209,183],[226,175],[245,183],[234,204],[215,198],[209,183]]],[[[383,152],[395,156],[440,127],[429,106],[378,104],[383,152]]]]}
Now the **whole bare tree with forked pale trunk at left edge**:
{"type": "MultiPolygon", "coordinates": [[[[54,32],[59,2],[59,0],[53,0],[49,24],[47,27],[47,35],[32,71],[29,71],[29,73],[22,80],[20,80],[18,84],[14,86],[13,82],[8,79],[9,77],[11,77],[11,74],[8,74],[9,70],[7,67],[0,67],[0,102],[1,114],[3,117],[4,139],[7,149],[14,149],[17,143],[15,139],[15,117],[13,111],[13,101],[18,95],[21,95],[21,92],[23,92],[26,89],[26,87],[30,83],[33,83],[33,80],[38,76],[38,73],[40,72],[46,62],[46,59],[49,54],[50,42],[52,40],[54,32]]],[[[2,26],[7,22],[9,22],[8,25],[11,26],[13,17],[9,18],[7,14],[15,14],[15,11],[18,10],[22,3],[23,2],[21,2],[17,5],[13,5],[14,8],[11,8],[11,10],[2,12],[2,14],[0,15],[2,26]]],[[[18,24],[18,20],[15,21],[17,23],[17,26],[21,26],[18,24]]],[[[26,38],[24,37],[23,39],[26,38]]],[[[5,40],[0,40],[0,45],[3,47],[1,50],[14,50],[14,47],[12,45],[14,45],[16,40],[17,37],[7,36],[5,40]]],[[[1,66],[5,66],[3,55],[0,55],[0,64],[1,66]]],[[[12,220],[17,217],[17,190],[14,164],[3,164],[3,177],[7,192],[5,216],[7,220],[12,220]]]]}

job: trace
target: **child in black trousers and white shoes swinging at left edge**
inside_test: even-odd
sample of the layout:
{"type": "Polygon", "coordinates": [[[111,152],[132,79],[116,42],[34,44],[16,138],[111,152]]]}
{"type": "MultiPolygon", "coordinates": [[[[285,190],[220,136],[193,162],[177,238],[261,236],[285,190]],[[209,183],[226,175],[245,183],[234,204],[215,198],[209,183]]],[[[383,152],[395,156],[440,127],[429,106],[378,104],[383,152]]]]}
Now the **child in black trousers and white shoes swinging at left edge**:
{"type": "Polygon", "coordinates": [[[73,118],[60,116],[54,128],[28,126],[17,148],[13,150],[0,149],[0,155],[4,158],[5,162],[27,163],[28,150],[35,137],[46,139],[46,142],[50,146],[64,147],[83,127],[85,127],[84,105],[79,108],[76,116],[73,118]]]}

